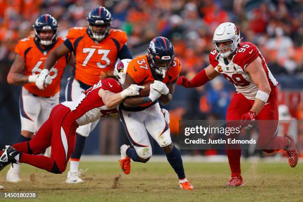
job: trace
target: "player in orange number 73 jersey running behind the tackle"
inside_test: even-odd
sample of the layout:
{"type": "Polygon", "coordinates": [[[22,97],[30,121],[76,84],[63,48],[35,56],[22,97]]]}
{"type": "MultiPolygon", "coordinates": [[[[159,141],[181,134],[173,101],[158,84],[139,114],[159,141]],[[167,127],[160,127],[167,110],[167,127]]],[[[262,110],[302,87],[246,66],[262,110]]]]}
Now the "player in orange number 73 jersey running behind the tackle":
{"type": "MultiPolygon", "coordinates": [[[[64,43],[48,57],[44,68],[46,74],[62,55],[73,52],[76,58],[75,75],[69,78],[65,90],[66,101],[74,101],[81,94],[99,81],[101,72],[113,71],[117,58],[132,58],[126,44],[126,33],[111,29],[112,17],[105,7],[94,8],[87,16],[88,28],[71,28],[64,43]]],[[[43,77],[39,80],[44,80],[43,77]]],[[[43,85],[43,84],[42,84],[43,85]]],[[[70,171],[66,183],[81,183],[78,165],[84,149],[86,137],[95,128],[96,122],[80,126],[77,129],[75,151],[71,155],[70,171]]]]}

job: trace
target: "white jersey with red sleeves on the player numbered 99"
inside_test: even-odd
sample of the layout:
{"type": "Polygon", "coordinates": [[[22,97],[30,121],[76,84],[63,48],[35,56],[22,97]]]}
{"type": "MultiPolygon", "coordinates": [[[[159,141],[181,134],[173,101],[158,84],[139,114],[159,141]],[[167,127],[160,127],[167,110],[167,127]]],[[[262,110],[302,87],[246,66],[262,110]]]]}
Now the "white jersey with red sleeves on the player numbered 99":
{"type": "Polygon", "coordinates": [[[262,59],[262,66],[272,89],[278,85],[278,82],[268,69],[260,51],[250,42],[240,43],[230,62],[227,61],[227,58],[220,57],[216,50],[209,53],[209,62],[217,72],[235,85],[237,92],[243,94],[249,100],[254,100],[258,87],[253,83],[252,77],[245,71],[245,68],[258,56],[262,59]]]}

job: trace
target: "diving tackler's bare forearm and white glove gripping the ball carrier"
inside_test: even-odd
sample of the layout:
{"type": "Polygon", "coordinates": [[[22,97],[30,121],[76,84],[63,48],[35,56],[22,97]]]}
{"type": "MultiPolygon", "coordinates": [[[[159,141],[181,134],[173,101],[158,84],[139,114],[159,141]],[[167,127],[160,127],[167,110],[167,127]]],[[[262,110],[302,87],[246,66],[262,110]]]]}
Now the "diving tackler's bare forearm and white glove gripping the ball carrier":
{"type": "Polygon", "coordinates": [[[106,107],[113,108],[115,106],[118,106],[119,103],[126,97],[138,96],[140,89],[144,89],[144,87],[133,84],[120,93],[112,93],[110,91],[100,89],[98,94],[106,107]]]}

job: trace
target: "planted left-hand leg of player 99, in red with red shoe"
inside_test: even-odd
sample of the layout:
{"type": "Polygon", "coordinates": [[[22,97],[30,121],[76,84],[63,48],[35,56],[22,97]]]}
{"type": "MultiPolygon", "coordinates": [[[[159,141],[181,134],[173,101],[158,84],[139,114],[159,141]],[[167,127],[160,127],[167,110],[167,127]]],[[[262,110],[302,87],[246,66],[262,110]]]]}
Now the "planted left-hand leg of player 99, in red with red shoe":
{"type": "MultiPolygon", "coordinates": [[[[241,120],[241,116],[244,113],[250,111],[252,105],[248,99],[242,94],[236,93],[232,101],[230,102],[226,113],[226,127],[239,127],[239,122],[232,120],[241,120]]],[[[239,134],[231,134],[228,138],[238,138],[239,134]]],[[[241,177],[241,146],[240,145],[228,145],[226,146],[226,154],[228,157],[228,163],[231,170],[231,179],[226,184],[227,186],[242,186],[243,180],[241,177]]]]}

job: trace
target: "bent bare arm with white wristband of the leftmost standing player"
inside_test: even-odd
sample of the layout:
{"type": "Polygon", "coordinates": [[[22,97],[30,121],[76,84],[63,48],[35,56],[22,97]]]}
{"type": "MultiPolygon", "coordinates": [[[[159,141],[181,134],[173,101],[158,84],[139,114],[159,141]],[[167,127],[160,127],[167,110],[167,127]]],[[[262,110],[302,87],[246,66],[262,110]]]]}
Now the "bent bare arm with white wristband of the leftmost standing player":
{"type": "Polygon", "coordinates": [[[25,61],[19,54],[16,54],[14,63],[11,65],[11,68],[7,75],[7,83],[14,85],[24,85],[35,82],[38,75],[25,76],[23,75],[24,70],[25,61]]]}

